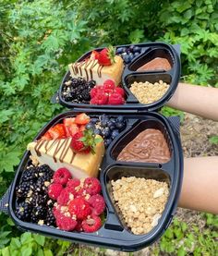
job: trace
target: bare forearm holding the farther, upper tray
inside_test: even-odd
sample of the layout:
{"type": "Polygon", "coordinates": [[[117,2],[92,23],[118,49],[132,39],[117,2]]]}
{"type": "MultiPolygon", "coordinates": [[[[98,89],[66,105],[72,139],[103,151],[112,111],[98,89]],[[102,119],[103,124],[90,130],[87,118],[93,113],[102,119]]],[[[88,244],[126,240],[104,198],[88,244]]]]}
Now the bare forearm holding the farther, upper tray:
{"type": "Polygon", "coordinates": [[[218,121],[218,89],[216,88],[179,83],[167,105],[218,121]]]}

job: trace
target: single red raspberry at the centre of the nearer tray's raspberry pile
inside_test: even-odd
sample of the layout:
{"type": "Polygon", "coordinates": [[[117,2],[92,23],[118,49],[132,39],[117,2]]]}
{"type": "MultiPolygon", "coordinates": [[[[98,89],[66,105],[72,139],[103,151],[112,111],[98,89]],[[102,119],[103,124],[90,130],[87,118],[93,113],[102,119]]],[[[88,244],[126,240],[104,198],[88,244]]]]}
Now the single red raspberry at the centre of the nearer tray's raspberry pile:
{"type": "Polygon", "coordinates": [[[91,207],[89,202],[83,198],[76,198],[69,202],[68,205],[69,213],[76,215],[78,219],[84,220],[88,215],[91,214],[91,207]]]}

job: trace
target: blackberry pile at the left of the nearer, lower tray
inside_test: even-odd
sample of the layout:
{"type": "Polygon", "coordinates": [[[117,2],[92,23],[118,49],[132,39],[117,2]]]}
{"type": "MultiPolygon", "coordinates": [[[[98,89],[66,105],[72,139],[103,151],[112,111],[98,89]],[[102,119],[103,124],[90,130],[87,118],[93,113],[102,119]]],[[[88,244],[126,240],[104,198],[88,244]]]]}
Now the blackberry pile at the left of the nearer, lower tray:
{"type": "Polygon", "coordinates": [[[27,167],[16,188],[18,219],[39,225],[55,226],[52,211],[55,201],[48,198],[47,190],[54,171],[48,165],[27,167]]]}

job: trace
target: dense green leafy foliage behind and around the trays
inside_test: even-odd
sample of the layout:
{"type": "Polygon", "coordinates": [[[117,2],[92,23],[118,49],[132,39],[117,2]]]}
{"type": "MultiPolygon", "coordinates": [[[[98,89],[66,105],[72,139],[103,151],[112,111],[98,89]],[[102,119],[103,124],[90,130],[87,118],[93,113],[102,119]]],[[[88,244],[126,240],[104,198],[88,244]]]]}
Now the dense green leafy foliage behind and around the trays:
{"type": "MultiPolygon", "coordinates": [[[[217,31],[217,0],[0,0],[0,196],[27,143],[64,111],[50,99],[69,62],[108,44],[180,43],[182,79],[218,87],[217,31]]],[[[29,233],[19,237],[11,221],[6,224],[0,216],[0,255],[17,255],[14,250],[25,256],[59,255],[69,247],[67,242],[44,246],[48,238],[29,233]]],[[[212,255],[210,246],[207,255],[212,255]]]]}

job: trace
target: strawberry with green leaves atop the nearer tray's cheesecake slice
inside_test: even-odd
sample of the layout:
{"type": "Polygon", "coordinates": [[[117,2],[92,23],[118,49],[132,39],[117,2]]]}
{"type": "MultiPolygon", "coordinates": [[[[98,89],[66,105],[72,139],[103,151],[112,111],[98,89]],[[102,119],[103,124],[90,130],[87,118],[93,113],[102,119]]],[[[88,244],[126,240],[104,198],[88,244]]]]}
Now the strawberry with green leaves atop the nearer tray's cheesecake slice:
{"type": "Polygon", "coordinates": [[[95,153],[94,148],[96,143],[102,139],[95,138],[95,134],[92,129],[86,129],[83,132],[79,131],[72,137],[71,148],[75,152],[80,153],[95,153]]]}

